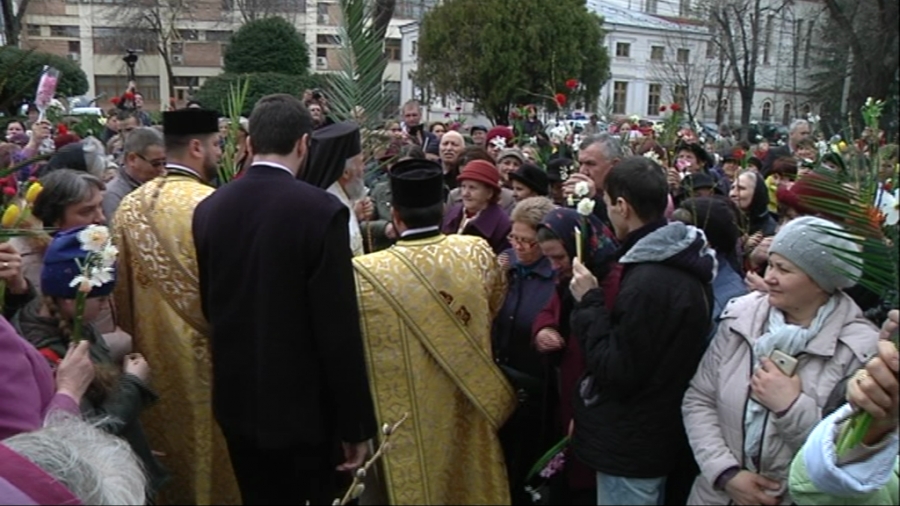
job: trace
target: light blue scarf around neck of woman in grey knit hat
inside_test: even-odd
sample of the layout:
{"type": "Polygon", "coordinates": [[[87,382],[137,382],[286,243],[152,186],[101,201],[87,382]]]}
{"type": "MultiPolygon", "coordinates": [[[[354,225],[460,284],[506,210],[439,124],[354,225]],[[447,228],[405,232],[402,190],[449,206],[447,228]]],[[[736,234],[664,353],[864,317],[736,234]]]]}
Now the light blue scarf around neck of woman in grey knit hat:
{"type": "MultiPolygon", "coordinates": [[[[784,313],[774,307],[769,310],[768,330],[756,343],[753,344],[753,367],[759,367],[760,357],[768,357],[773,351],[780,350],[788,355],[795,356],[809,343],[809,341],[822,331],[825,320],[834,312],[837,306],[835,297],[828,299],[816,317],[813,319],[809,327],[801,327],[787,323],[784,319],[784,313]]],[[[765,430],[766,413],[768,410],[762,404],[750,399],[744,413],[744,455],[749,456],[746,459],[750,470],[756,472],[758,462],[755,458],[760,459],[762,455],[762,436],[765,430]]]]}

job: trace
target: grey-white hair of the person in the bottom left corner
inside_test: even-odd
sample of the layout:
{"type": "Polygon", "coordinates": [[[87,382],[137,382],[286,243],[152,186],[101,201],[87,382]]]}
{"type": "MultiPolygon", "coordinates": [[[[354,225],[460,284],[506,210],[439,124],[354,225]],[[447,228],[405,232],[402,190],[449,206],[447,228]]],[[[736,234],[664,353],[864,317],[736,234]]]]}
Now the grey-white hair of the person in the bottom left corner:
{"type": "Polygon", "coordinates": [[[128,443],[63,411],[3,445],[61,483],[82,504],[145,504],[147,478],[128,443]]]}

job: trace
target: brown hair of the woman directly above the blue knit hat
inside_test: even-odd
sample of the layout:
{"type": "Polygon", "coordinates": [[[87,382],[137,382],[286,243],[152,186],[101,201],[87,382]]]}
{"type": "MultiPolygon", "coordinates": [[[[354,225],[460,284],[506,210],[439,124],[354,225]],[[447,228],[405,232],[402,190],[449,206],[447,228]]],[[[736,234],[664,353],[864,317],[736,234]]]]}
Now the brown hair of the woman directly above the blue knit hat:
{"type": "Polygon", "coordinates": [[[56,226],[72,204],[90,198],[94,190],[106,190],[97,177],[72,169],[57,169],[41,178],[44,187],[34,201],[32,214],[48,227],[56,226]]]}

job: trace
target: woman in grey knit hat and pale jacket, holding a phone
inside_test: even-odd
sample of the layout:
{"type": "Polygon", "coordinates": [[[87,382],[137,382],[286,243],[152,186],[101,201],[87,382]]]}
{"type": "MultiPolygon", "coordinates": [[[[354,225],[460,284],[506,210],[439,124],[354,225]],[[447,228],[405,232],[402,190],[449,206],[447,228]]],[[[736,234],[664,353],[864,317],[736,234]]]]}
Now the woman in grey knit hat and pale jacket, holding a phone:
{"type": "Polygon", "coordinates": [[[860,270],[838,225],[791,221],[769,249],[768,293],[733,299],[682,402],[700,466],[688,504],[790,504],[790,463],[841,379],[875,355],[877,329],[843,290],[860,270]],[[787,357],[787,358],[784,358],[787,357]]]}

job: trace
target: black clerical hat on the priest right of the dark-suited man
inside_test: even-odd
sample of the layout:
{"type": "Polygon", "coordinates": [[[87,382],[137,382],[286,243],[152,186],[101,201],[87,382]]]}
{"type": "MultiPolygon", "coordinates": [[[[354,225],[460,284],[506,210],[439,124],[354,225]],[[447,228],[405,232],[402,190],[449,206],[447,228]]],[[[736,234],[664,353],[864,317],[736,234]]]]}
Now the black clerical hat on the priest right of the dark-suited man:
{"type": "Polygon", "coordinates": [[[403,160],[391,168],[391,204],[422,208],[444,201],[444,171],[430,160],[403,160]]]}

